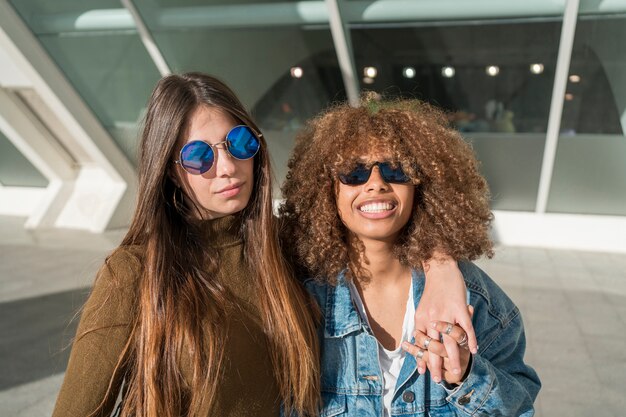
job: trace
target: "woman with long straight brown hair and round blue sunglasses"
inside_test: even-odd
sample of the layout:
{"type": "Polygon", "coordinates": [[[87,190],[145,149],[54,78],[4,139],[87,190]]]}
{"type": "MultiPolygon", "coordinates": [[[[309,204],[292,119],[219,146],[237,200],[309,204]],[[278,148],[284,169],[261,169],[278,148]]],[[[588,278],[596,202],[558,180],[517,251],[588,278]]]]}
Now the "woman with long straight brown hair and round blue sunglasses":
{"type": "Polygon", "coordinates": [[[317,407],[315,311],[281,254],[267,145],[235,94],[171,75],[138,202],[87,301],[54,416],[276,416],[317,407]]]}

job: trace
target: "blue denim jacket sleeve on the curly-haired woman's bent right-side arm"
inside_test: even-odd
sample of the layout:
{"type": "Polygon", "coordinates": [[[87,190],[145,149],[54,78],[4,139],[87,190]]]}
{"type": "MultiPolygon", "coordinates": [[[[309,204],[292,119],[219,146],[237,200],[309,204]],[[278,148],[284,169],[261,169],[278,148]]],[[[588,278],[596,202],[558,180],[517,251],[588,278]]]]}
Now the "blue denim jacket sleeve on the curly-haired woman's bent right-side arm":
{"type": "Polygon", "coordinates": [[[472,356],[469,375],[448,400],[459,415],[534,415],[533,403],[541,387],[537,373],[524,363],[524,326],[518,314],[492,343],[472,356]]]}

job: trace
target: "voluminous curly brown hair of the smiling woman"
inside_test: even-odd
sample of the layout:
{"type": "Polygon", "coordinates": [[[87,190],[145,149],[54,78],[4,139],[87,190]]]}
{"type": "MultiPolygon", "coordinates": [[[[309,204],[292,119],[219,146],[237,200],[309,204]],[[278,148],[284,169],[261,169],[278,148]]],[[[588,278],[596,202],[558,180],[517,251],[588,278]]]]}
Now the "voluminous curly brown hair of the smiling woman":
{"type": "Polygon", "coordinates": [[[416,187],[412,217],[395,245],[401,262],[421,269],[435,250],[457,260],[493,256],[487,183],[446,115],[418,100],[364,100],[360,107],[328,109],[296,138],[279,213],[283,242],[300,267],[333,284],[349,265],[348,231],[336,204],[338,175],[381,150],[416,187]]]}

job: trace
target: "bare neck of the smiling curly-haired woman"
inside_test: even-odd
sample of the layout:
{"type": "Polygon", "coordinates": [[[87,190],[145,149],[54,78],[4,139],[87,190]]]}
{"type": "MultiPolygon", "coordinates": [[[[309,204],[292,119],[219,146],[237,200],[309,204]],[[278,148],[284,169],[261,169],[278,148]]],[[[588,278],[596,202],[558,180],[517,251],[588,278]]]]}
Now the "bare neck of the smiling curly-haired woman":
{"type": "Polygon", "coordinates": [[[350,259],[360,285],[396,285],[410,277],[410,268],[400,263],[394,254],[392,242],[369,239],[360,242],[359,245],[357,238],[351,237],[350,259]]]}

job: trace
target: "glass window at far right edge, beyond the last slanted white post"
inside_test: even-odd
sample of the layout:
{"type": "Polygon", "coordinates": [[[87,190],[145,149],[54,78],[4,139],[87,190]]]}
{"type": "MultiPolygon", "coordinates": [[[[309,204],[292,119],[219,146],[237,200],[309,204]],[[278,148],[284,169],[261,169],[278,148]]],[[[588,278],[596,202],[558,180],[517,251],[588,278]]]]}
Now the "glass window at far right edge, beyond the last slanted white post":
{"type": "Polygon", "coordinates": [[[548,211],[626,215],[626,18],[581,15],[548,211]]]}

